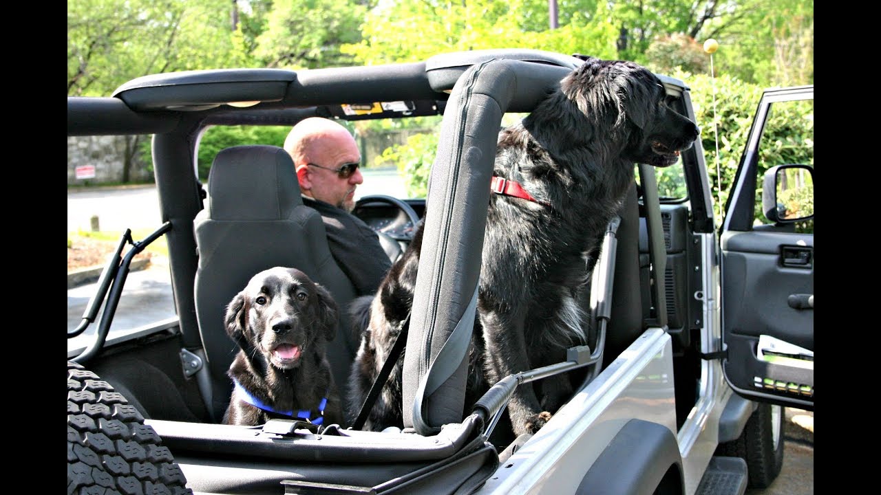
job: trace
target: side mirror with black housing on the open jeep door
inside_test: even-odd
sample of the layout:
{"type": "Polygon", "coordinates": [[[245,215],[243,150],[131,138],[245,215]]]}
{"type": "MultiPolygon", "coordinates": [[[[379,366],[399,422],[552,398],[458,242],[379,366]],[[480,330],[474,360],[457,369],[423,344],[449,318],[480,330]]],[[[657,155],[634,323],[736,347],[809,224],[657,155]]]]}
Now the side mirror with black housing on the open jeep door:
{"type": "Polygon", "coordinates": [[[767,169],[762,185],[762,211],[767,219],[790,224],[814,216],[814,169],[778,165],[767,169]]]}

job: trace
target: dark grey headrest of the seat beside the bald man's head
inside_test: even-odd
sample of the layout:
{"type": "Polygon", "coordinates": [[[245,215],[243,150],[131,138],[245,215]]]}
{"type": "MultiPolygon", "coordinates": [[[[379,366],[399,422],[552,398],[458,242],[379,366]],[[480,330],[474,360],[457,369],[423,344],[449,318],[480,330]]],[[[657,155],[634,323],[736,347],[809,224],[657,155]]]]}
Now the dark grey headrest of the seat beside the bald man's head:
{"type": "Polygon", "coordinates": [[[291,156],[278,146],[233,146],[208,173],[208,213],[216,220],[278,220],[303,203],[291,156]]]}

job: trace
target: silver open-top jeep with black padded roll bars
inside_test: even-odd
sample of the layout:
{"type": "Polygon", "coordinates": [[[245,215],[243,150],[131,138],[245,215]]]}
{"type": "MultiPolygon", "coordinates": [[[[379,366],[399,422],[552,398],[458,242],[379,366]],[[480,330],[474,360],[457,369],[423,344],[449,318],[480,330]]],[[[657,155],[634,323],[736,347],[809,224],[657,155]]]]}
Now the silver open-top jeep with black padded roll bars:
{"type": "MultiPolygon", "coordinates": [[[[205,129],[289,126],[315,115],[442,115],[428,198],[368,196],[355,211],[405,247],[419,221],[441,233],[483,232],[485,210],[474,207],[480,202],[456,194],[478,190],[465,186],[484,174],[470,171],[492,170],[503,117],[529,112],[580,63],[537,50],[478,50],[382,66],[157,74],[109,97],[69,97],[69,137],[152,135],[161,218],[143,240],[123,236],[83,324],[69,332],[98,325],[92,343],[68,351],[68,492],[691,494],[770,484],[782,463],[781,406],[813,409],[813,234],[794,228],[813,216],[812,167],[774,164],[761,174],[767,164],[759,147],[772,104],[812,100],[812,86],[766,92],[722,227],[700,140],[664,169],[663,181],[652,167],[635,167],[584,301],[592,341],[568,361],[502,380],[460,422],[428,420],[426,431],[365,432],[294,419],[219,424],[236,351],[224,306],[249,277],[292,266],[329,288],[340,307],[354,292],[329,255],[317,212],[300,203],[298,190],[278,188],[273,164],[258,152],[271,144],[244,150],[254,153],[247,177],[224,175],[215,162],[218,174],[199,180],[205,129]],[[756,221],[757,197],[767,224],[756,221]],[[422,219],[427,203],[451,214],[422,219]],[[441,218],[464,220],[441,225],[441,218]],[[177,320],[108,336],[133,255],[160,236],[177,320]],[[515,387],[574,371],[584,373],[581,388],[536,434],[513,438],[495,427],[515,387]]],[[[685,82],[661,79],[670,105],[693,119],[685,82]]],[[[459,249],[463,265],[423,258],[416,297],[439,291],[462,300],[413,315],[414,351],[419,339],[432,338],[419,329],[455,324],[474,289],[460,285],[475,277],[455,271],[478,270],[480,251],[447,248],[459,249]]],[[[340,388],[357,344],[339,331],[329,345],[340,388]]],[[[444,342],[428,344],[437,350],[444,342]]],[[[465,358],[444,351],[451,366],[442,369],[465,358]]],[[[448,393],[437,388],[420,404],[422,417],[433,417],[432,407],[471,407],[456,406],[462,394],[441,396],[448,393]]],[[[405,395],[404,408],[412,400],[405,395]]]]}

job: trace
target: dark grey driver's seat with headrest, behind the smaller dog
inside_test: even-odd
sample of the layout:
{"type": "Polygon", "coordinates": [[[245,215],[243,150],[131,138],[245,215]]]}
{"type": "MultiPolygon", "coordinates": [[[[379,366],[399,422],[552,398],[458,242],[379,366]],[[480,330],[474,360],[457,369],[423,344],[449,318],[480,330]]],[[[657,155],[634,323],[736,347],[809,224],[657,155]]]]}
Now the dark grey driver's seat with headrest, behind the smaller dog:
{"type": "Polygon", "coordinates": [[[223,417],[233,391],[226,375],[239,347],[226,335],[224,314],[255,273],[274,266],[302,270],[333,295],[337,336],[328,359],[340,395],[358,349],[345,308],[355,288],[327,244],[321,215],[303,204],[293,161],[278,146],[233,146],[220,151],[208,176],[204,210],[194,219],[195,305],[210,385],[203,386],[211,419],[223,417]]]}

